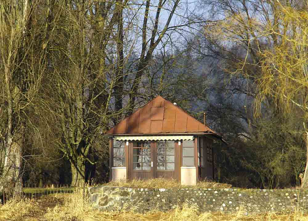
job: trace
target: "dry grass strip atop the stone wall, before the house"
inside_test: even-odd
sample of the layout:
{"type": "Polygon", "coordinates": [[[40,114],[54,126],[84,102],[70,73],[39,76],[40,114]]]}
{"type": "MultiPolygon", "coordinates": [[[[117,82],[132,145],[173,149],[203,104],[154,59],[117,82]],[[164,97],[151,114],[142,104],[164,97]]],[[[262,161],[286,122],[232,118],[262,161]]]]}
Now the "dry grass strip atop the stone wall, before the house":
{"type": "Polygon", "coordinates": [[[200,181],[196,186],[182,186],[177,180],[155,178],[149,180],[120,180],[103,185],[132,187],[132,188],[230,188],[230,184],[220,184],[212,181],[200,181]]]}

